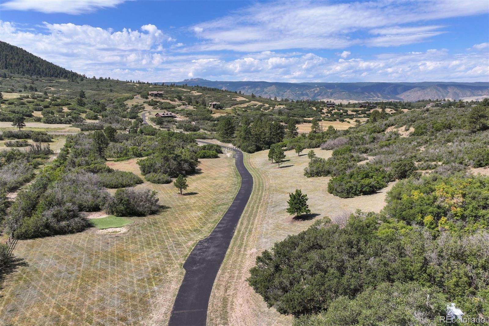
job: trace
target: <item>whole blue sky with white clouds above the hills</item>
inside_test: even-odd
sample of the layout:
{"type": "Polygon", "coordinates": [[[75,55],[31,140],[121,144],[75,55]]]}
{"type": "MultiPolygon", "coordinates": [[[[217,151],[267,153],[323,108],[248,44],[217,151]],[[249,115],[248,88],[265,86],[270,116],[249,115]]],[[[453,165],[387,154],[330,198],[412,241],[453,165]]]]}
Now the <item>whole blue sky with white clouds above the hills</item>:
{"type": "Polygon", "coordinates": [[[0,40],[144,81],[489,81],[489,1],[7,0],[0,40]]]}

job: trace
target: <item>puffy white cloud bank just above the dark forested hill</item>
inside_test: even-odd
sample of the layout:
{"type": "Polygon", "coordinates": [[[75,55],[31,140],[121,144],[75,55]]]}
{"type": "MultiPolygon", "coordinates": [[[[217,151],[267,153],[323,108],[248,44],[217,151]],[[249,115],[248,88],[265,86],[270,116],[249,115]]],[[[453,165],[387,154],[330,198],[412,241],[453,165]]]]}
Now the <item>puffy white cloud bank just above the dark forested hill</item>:
{"type": "Polygon", "coordinates": [[[25,31],[14,23],[0,21],[2,41],[82,73],[120,62],[127,67],[153,67],[164,61],[158,52],[163,51],[168,39],[152,24],[141,26],[140,31],[127,28],[113,31],[90,25],[44,22],[42,31],[25,31]]]}

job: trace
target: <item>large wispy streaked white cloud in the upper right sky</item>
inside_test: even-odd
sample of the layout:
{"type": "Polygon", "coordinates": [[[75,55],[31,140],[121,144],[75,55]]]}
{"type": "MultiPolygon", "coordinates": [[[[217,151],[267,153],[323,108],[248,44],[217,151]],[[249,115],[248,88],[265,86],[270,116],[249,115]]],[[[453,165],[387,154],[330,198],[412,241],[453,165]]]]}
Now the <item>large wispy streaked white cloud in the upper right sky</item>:
{"type": "Polygon", "coordinates": [[[192,26],[198,50],[260,52],[291,48],[338,49],[354,45],[401,46],[442,34],[432,20],[489,12],[478,0],[255,3],[239,13],[192,26]],[[334,23],[325,23],[334,17],[334,23]],[[352,19],[354,18],[354,19],[352,19]],[[378,36],[358,38],[358,33],[378,36]]]}

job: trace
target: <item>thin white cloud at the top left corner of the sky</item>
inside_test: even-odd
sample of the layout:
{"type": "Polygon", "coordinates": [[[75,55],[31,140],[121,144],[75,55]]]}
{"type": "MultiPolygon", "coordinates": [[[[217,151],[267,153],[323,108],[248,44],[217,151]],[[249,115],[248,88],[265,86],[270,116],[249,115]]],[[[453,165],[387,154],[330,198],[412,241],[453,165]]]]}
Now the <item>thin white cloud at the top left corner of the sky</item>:
{"type": "Polygon", "coordinates": [[[125,0],[10,0],[1,4],[2,10],[33,10],[46,14],[79,15],[97,9],[113,8],[125,0]]]}

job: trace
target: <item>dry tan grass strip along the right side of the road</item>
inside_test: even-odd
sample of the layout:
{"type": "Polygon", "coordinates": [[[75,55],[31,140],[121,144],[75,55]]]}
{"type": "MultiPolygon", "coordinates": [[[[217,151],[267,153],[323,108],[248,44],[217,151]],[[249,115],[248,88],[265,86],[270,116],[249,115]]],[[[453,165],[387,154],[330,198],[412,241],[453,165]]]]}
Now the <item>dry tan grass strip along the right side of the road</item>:
{"type": "MultiPolygon", "coordinates": [[[[335,197],[326,191],[330,177],[303,176],[309,161],[306,152],[301,157],[293,151],[286,152],[289,161],[280,169],[269,163],[267,151],[245,154],[245,163],[254,178],[254,189],[214,283],[208,325],[290,325],[291,316],[268,309],[246,282],[256,256],[287,235],[307,229],[317,218],[330,216],[334,220],[344,212],[356,209],[379,211],[384,206],[385,194],[393,184],[370,196],[335,197]],[[296,188],[308,195],[311,212],[317,216],[296,220],[286,212],[289,193],[296,188]]],[[[332,151],[315,149],[315,153],[328,158],[332,151]]]]}

